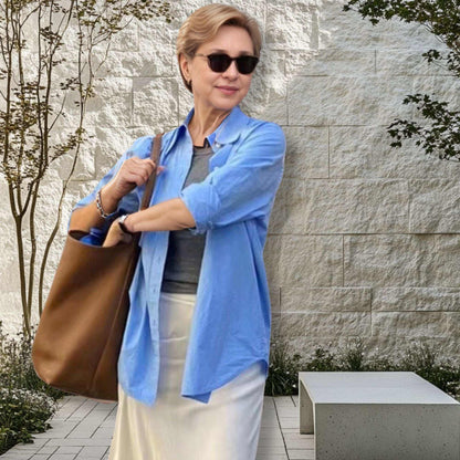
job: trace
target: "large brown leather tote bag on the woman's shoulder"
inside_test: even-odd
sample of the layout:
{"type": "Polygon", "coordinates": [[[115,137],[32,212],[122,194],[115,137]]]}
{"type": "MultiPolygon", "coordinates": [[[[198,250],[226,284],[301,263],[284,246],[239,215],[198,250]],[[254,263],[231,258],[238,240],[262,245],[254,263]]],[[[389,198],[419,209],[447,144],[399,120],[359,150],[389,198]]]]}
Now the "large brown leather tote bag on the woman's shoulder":
{"type": "MultiPolygon", "coordinates": [[[[151,159],[158,165],[161,135],[151,159]]],[[[149,206],[156,170],[140,209],[149,206]]],[[[140,253],[140,233],[103,248],[70,231],[32,344],[36,375],[48,385],[93,399],[117,401],[117,363],[129,310],[129,285],[140,253]]]]}

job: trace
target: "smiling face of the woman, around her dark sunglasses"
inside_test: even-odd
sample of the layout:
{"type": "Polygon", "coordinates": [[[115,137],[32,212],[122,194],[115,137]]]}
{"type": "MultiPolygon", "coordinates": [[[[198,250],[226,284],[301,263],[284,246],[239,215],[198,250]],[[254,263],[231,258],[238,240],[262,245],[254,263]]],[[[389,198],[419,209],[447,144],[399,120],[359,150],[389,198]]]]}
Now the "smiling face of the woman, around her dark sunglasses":
{"type": "MultiPolygon", "coordinates": [[[[215,39],[202,43],[197,54],[226,53],[230,58],[241,54],[253,55],[251,36],[243,28],[222,25],[215,39]]],[[[253,73],[244,75],[238,72],[237,62],[221,73],[212,72],[208,59],[195,55],[187,62],[180,56],[180,65],[187,80],[191,79],[195,105],[200,104],[218,111],[230,111],[248,94],[253,73]]]]}

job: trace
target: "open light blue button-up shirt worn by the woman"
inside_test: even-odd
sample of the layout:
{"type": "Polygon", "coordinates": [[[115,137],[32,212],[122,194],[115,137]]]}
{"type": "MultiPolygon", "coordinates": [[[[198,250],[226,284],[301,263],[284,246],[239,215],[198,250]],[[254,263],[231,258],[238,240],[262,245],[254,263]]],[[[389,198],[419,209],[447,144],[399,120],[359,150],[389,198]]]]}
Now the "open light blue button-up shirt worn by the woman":
{"type": "MultiPolygon", "coordinates": [[[[269,374],[271,304],[263,248],[269,217],[284,170],[285,138],[275,123],[247,116],[233,107],[209,136],[215,154],[201,182],[182,189],[192,158],[188,123],[165,133],[150,206],[180,198],[195,218],[194,234],[206,233],[205,252],[190,328],[181,396],[208,402],[211,391],[254,362],[269,374]],[[216,144],[215,144],[216,142],[216,144]]],[[[154,136],[136,139],[91,195],[74,209],[88,205],[97,190],[132,156],[147,158],[154,136]]],[[[116,212],[135,212],[145,185],[118,203],[116,212]]],[[[101,243],[109,222],[93,228],[88,242],[101,243]]],[[[140,258],[129,290],[130,310],[118,358],[124,391],[151,406],[159,373],[158,302],[169,231],[143,232],[140,258]]]]}

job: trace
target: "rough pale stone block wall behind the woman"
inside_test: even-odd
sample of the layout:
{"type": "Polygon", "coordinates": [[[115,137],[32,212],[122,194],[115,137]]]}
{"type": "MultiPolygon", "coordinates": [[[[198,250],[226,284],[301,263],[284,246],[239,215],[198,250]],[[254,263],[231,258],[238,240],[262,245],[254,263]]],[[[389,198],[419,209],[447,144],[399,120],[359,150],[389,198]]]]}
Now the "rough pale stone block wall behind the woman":
{"type": "MultiPolygon", "coordinates": [[[[176,2],[170,24],[133,22],[117,38],[88,107],[86,126],[95,137],[66,197],[46,289],[72,206],[136,137],[176,127],[191,108],[175,39],[184,19],[206,3],[176,2]]],[[[394,118],[417,119],[414,107],[401,104],[406,94],[435,93],[459,108],[460,81],[421,58],[445,48],[421,25],[391,20],[374,27],[344,12],[343,1],[230,3],[258,19],[264,39],[242,108],[279,123],[288,140],[264,250],[272,335],[288,337],[301,353],[359,336],[391,355],[421,339],[458,359],[460,165],[428,157],[412,143],[390,148],[386,134],[394,118]]],[[[44,184],[43,234],[67,167],[60,161],[44,184]]],[[[0,191],[7,197],[3,182],[0,191]]],[[[0,314],[14,331],[21,306],[7,199],[0,215],[0,314]]]]}

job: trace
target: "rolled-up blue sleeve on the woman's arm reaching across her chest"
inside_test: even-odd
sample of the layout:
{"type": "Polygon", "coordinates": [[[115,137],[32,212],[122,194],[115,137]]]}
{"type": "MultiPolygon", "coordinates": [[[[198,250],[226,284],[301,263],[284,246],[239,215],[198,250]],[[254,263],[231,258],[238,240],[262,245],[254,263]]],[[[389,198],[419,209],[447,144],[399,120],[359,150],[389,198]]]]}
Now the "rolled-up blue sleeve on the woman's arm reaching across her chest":
{"type": "Polygon", "coordinates": [[[257,125],[223,166],[201,182],[185,187],[179,198],[194,216],[194,234],[247,219],[271,209],[284,170],[285,137],[275,123],[257,125]]]}

